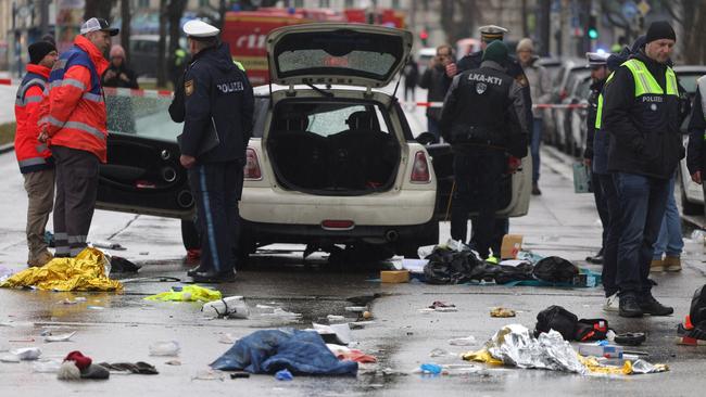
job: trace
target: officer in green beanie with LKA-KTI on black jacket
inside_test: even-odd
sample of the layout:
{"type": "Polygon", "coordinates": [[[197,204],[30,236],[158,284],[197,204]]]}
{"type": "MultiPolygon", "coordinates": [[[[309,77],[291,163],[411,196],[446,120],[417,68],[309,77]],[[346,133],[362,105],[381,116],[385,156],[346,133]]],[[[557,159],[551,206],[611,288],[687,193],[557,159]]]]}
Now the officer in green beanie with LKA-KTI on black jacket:
{"type": "Polygon", "coordinates": [[[493,245],[505,156],[527,155],[522,87],[502,66],[507,53],[500,40],[488,44],[479,68],[454,77],[441,111],[441,132],[454,153],[451,236],[467,241],[468,213],[476,204],[474,236],[483,258],[493,245]]]}

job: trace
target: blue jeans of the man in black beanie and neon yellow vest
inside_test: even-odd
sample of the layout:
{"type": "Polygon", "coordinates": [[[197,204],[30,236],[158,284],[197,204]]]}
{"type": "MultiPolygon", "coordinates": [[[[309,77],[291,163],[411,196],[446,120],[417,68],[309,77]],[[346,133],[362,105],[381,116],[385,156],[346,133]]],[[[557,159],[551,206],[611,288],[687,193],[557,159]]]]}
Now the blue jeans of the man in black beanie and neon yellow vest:
{"type": "Polygon", "coordinates": [[[650,262],[665,216],[669,180],[642,175],[614,174],[620,203],[618,242],[619,294],[647,295],[652,290],[650,262]]]}

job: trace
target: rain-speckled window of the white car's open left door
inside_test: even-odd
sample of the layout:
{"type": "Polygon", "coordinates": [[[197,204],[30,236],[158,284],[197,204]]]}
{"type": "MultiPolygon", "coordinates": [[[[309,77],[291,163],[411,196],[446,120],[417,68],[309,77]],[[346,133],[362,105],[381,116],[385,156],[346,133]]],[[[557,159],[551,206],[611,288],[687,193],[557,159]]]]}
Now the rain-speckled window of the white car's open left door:
{"type": "Polygon", "coordinates": [[[182,124],[169,118],[171,103],[168,94],[106,88],[108,131],[175,142],[182,124]]]}

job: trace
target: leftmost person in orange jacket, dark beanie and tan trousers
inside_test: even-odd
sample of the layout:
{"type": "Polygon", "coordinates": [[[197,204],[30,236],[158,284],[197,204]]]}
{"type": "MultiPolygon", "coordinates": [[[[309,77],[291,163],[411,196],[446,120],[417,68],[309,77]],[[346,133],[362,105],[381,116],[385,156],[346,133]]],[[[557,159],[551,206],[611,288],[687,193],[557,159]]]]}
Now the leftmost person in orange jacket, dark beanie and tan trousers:
{"type": "Polygon", "coordinates": [[[29,63],[15,100],[15,155],[27,192],[27,265],[43,266],[53,256],[45,241],[45,228],[54,204],[54,162],[47,144],[39,143],[42,93],[59,56],[47,41],[29,46],[29,63]]]}

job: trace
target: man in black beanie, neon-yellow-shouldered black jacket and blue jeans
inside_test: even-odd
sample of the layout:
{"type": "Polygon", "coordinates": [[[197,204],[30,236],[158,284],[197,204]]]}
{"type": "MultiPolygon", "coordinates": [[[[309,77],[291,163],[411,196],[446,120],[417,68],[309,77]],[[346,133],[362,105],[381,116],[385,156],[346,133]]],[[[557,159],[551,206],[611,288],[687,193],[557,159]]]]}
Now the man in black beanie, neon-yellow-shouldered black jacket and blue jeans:
{"type": "Polygon", "coordinates": [[[621,213],[616,280],[621,317],[673,312],[654,298],[648,276],[669,178],[684,155],[679,88],[668,66],[676,35],[667,22],[655,22],[645,41],[644,50],[615,72],[604,93],[608,171],[615,172],[621,213]]]}

